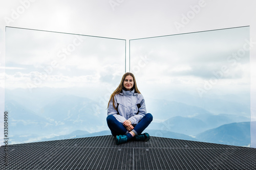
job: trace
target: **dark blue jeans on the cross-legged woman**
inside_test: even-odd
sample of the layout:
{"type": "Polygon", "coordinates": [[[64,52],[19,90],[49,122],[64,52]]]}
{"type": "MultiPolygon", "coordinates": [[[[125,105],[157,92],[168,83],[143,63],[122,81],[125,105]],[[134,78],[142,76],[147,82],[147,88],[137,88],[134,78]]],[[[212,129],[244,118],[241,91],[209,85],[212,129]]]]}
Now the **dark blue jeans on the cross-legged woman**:
{"type": "MultiPolygon", "coordinates": [[[[135,135],[141,134],[141,132],[143,132],[143,130],[145,130],[148,125],[150,125],[152,120],[152,114],[145,114],[132,131],[135,133],[135,135]]],[[[125,135],[129,133],[123,124],[118,122],[118,120],[113,115],[108,115],[108,117],[106,117],[106,123],[108,123],[113,136],[125,135]]]]}

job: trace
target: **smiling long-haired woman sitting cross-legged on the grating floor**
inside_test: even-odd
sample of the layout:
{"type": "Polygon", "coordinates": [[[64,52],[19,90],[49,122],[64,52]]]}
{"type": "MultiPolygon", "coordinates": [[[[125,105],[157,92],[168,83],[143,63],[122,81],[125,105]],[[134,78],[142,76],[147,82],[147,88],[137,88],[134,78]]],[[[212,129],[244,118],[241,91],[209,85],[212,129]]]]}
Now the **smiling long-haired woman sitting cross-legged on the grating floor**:
{"type": "Polygon", "coordinates": [[[137,88],[134,75],[126,72],[110,96],[106,117],[111,133],[116,137],[116,144],[132,138],[137,141],[150,140],[148,133],[141,133],[152,120],[152,114],[146,113],[145,101],[137,88]]]}

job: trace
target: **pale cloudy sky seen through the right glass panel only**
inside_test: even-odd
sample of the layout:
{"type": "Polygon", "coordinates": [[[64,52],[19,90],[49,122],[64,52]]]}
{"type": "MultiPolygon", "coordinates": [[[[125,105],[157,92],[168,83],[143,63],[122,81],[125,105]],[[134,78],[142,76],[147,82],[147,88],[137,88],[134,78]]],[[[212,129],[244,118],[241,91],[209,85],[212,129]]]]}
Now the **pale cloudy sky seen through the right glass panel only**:
{"type": "Polygon", "coordinates": [[[248,92],[249,50],[243,49],[246,39],[249,27],[131,40],[131,70],[136,72],[141,65],[139,81],[155,87],[165,84],[172,90],[179,86],[195,89],[216,77],[212,79],[218,81],[214,85],[223,92],[248,92]],[[141,57],[147,59],[142,64],[141,57]]]}

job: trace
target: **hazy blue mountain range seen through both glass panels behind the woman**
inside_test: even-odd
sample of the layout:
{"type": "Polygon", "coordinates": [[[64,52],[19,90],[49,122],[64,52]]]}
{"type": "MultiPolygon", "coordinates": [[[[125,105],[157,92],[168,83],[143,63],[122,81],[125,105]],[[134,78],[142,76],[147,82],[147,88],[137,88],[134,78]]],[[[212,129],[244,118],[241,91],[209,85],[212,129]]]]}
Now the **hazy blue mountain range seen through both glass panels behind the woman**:
{"type": "MultiPolygon", "coordinates": [[[[105,120],[106,106],[99,105],[99,101],[58,91],[54,92],[54,89],[39,88],[37,90],[33,95],[24,89],[6,91],[5,110],[9,112],[10,116],[10,144],[65,139],[72,136],[110,134],[110,132],[105,132],[108,130],[105,120]],[[34,98],[35,94],[40,98],[34,98]]],[[[240,123],[250,122],[248,105],[237,103],[238,99],[228,102],[228,107],[225,108],[228,111],[225,114],[210,112],[205,107],[192,106],[186,102],[188,101],[182,103],[162,99],[146,101],[147,110],[154,117],[147,131],[151,131],[152,134],[159,137],[218,142],[204,132],[208,130],[222,131],[223,129],[218,128],[225,125],[235,126],[232,123],[237,123],[236,126],[238,126],[240,123]],[[237,111],[228,109],[232,104],[234,108],[239,107],[239,109],[237,111]]],[[[225,107],[225,102],[222,102],[223,100],[220,100],[219,103],[212,105],[225,107]]],[[[238,126],[237,128],[246,130],[245,133],[250,132],[247,124],[246,127],[238,126]]],[[[231,129],[229,128],[229,131],[231,129]]],[[[236,136],[234,133],[233,135],[236,136]]],[[[238,139],[237,143],[248,144],[247,139],[248,137],[244,137],[244,143],[238,139]]],[[[236,138],[234,137],[233,140],[236,138]]],[[[225,142],[226,144],[231,143],[231,139],[223,139],[223,141],[224,144],[225,142]]]]}

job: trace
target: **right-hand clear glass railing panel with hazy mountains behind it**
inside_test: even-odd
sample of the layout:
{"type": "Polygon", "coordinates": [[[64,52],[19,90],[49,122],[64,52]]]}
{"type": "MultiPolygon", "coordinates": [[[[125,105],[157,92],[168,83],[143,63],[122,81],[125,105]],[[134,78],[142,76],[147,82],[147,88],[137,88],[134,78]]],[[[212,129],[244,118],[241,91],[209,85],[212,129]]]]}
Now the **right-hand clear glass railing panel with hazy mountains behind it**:
{"type": "Polygon", "coordinates": [[[130,40],[153,136],[250,145],[249,27],[130,40]]]}

